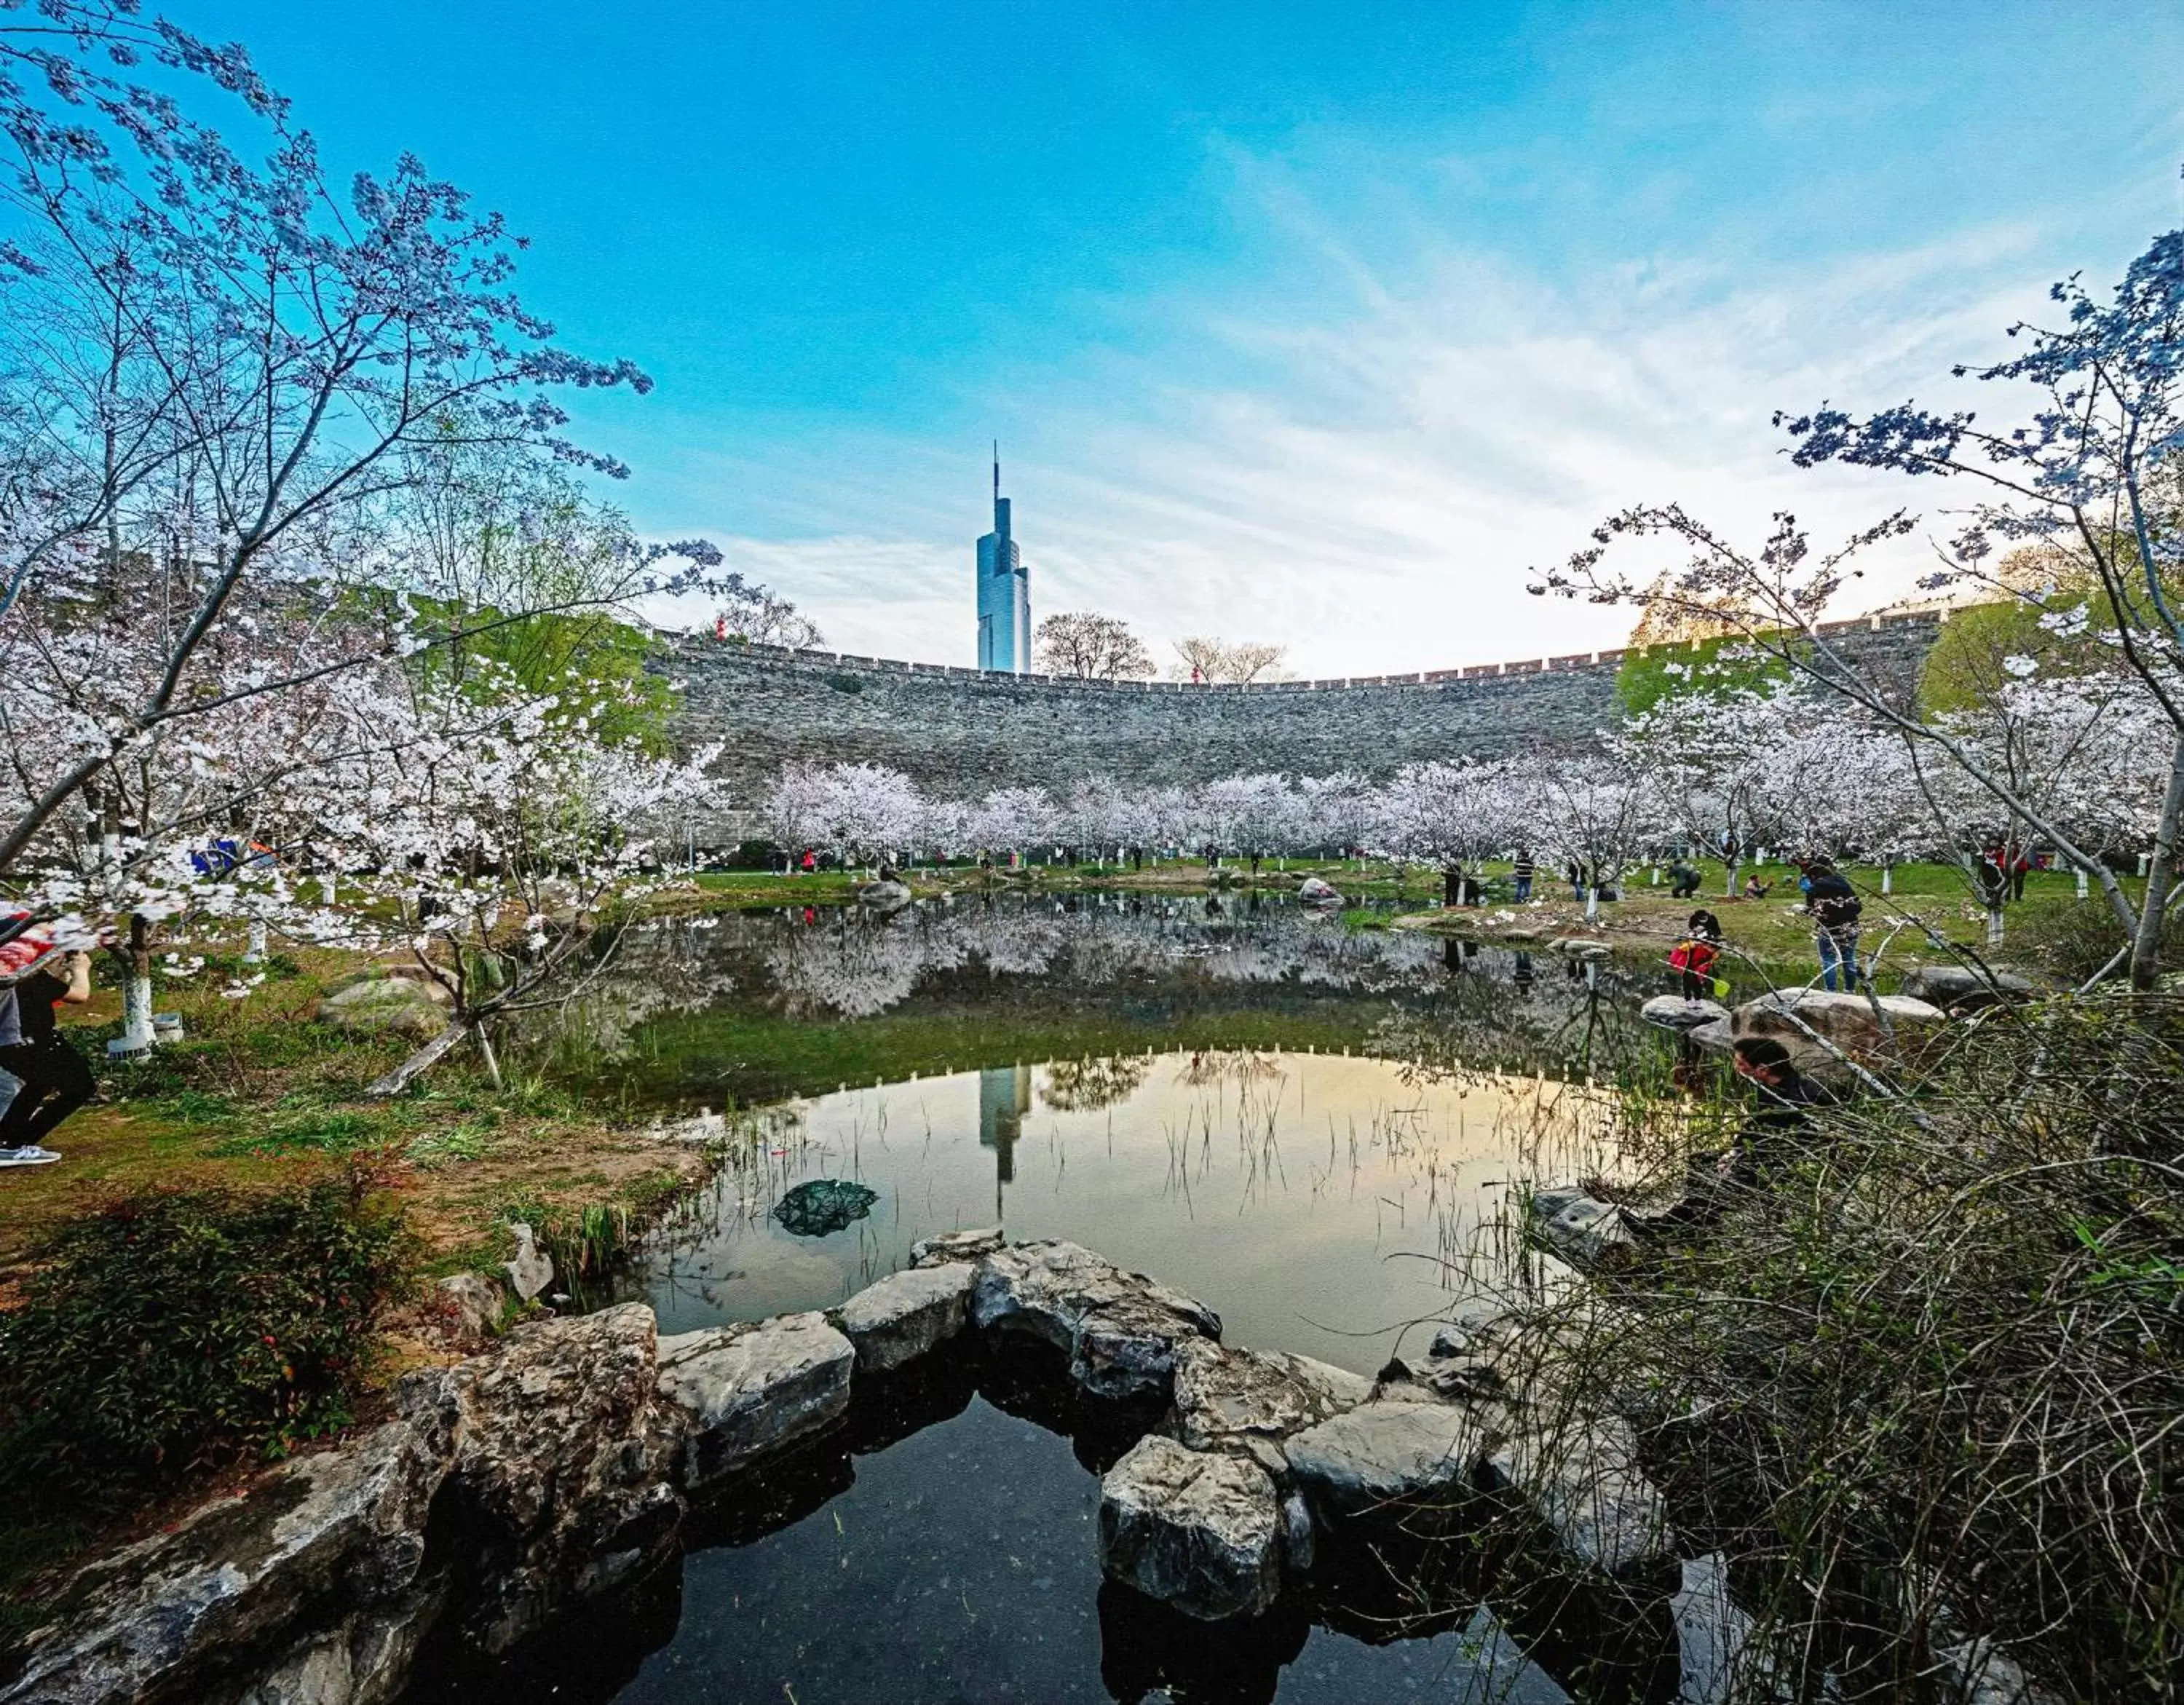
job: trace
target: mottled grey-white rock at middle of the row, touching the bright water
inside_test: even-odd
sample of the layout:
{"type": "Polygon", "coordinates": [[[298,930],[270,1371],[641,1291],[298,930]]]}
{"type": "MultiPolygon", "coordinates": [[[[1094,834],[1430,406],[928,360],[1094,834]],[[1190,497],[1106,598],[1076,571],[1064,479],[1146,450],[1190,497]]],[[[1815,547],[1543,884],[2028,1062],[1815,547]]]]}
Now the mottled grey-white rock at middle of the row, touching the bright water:
{"type": "Polygon", "coordinates": [[[1029,1332],[1066,1349],[1070,1375],[1094,1397],[1166,1397],[1175,1347],[1221,1338],[1221,1316],[1203,1303],[1072,1242],[987,1255],[970,1312],[981,1330],[1029,1332]]]}

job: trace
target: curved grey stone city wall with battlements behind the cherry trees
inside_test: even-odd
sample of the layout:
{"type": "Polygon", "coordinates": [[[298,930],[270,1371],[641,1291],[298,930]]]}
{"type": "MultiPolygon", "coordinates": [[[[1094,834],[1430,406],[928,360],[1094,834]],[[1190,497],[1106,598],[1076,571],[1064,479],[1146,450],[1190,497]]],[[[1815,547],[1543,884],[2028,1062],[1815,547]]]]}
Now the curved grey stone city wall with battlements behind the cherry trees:
{"type": "MultiPolygon", "coordinates": [[[[1907,688],[1935,616],[1832,622],[1850,664],[1907,688]]],[[[1241,771],[1385,777],[1433,758],[1570,749],[1616,716],[1621,651],[1337,681],[1188,685],[992,675],[826,651],[677,640],[677,738],[725,742],[716,773],[749,808],[788,762],[871,762],[954,797],[1088,775],[1190,784],[1241,771]]]]}

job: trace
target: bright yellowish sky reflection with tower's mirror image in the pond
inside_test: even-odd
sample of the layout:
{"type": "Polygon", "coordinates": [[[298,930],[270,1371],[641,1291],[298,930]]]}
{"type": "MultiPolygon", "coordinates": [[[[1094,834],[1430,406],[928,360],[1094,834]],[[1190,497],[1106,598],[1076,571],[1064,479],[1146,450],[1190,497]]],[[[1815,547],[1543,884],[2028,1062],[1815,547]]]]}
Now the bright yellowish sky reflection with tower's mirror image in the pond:
{"type": "Polygon", "coordinates": [[[1583,1083],[1363,1054],[1177,1050],[996,1065],[778,1109],[631,1277],[662,1330],[830,1308],[917,1238],[1070,1238],[1212,1305],[1234,1343],[1376,1371],[1481,1268],[1527,1277],[1518,1181],[1614,1172],[1583,1083]],[[810,1179],[878,1192],[821,1238],[769,1212],[810,1179]]]}

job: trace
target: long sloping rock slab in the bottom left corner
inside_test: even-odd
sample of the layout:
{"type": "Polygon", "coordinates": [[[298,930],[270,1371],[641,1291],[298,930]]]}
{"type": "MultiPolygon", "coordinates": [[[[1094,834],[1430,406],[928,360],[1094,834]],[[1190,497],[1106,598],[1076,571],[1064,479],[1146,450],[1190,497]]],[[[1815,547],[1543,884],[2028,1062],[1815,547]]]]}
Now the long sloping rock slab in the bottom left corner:
{"type": "Polygon", "coordinates": [[[66,1620],[31,1635],[0,1701],[199,1705],[234,1692],[238,1664],[413,1591],[446,1471],[443,1436],[391,1421],[103,1557],[63,1591],[66,1620]]]}

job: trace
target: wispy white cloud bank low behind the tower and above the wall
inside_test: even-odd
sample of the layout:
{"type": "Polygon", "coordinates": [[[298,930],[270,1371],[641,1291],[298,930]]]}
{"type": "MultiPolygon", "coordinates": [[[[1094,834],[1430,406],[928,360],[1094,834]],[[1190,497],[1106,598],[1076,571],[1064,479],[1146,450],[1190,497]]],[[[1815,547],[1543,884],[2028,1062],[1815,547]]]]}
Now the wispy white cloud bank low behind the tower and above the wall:
{"type": "MultiPolygon", "coordinates": [[[[1291,205],[1280,220],[1302,225],[1291,205]]],[[[1088,351],[992,400],[1035,445],[1009,469],[1035,613],[1099,607],[1155,642],[1275,640],[1308,675],[1621,644],[1631,611],[1542,605],[1527,565],[1640,500],[1736,537],[1791,509],[1821,544],[1902,504],[1963,502],[1939,482],[1802,474],[1769,415],[1944,402],[1950,362],[1994,351],[2051,275],[2022,227],[1808,269],[1647,258],[1559,290],[1463,251],[1380,275],[1326,220],[1306,242],[1341,286],[1334,310],[1158,303],[1147,319],[1166,330],[1144,354],[1088,351]]],[[[843,651],[970,661],[983,526],[935,535],[950,452],[863,439],[854,463],[784,463],[799,509],[832,489],[856,537],[727,539],[732,563],[843,651]]],[[[1854,596],[1900,596],[1924,565],[1911,541],[1854,596]]]]}

